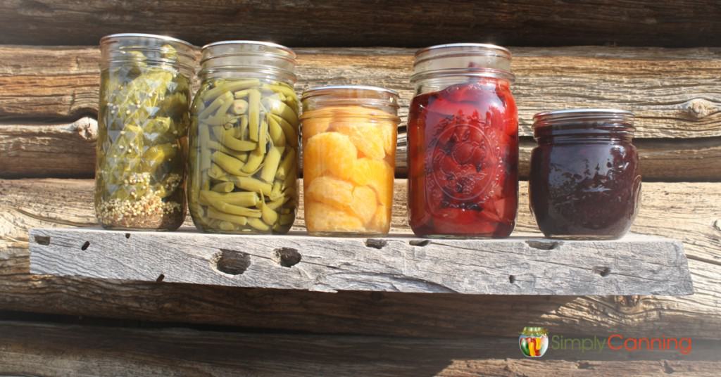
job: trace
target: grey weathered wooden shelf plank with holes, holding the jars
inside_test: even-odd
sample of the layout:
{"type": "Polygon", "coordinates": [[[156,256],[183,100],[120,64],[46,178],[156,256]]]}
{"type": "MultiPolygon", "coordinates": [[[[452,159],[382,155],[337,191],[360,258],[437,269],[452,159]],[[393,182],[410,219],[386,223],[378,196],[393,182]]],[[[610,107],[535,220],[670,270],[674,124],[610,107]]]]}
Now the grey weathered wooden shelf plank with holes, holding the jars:
{"type": "Polygon", "coordinates": [[[322,292],[693,293],[678,241],[377,238],[32,229],[30,273],[322,292]]]}

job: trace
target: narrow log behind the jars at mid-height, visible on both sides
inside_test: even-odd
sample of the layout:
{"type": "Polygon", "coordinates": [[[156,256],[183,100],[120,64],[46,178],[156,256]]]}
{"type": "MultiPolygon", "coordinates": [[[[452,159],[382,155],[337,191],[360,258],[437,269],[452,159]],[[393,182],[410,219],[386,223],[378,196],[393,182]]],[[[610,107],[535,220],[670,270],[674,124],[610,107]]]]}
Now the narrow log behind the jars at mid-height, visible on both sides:
{"type": "MultiPolygon", "coordinates": [[[[0,124],[0,178],[94,176],[97,121],[82,117],[73,123],[0,124]]],[[[634,141],[646,181],[721,181],[721,138],[645,139],[634,141]]],[[[531,149],[521,140],[518,172],[528,179],[531,149]]],[[[396,175],[407,172],[404,139],[396,154],[396,175]]]]}

